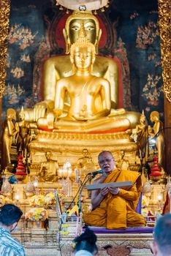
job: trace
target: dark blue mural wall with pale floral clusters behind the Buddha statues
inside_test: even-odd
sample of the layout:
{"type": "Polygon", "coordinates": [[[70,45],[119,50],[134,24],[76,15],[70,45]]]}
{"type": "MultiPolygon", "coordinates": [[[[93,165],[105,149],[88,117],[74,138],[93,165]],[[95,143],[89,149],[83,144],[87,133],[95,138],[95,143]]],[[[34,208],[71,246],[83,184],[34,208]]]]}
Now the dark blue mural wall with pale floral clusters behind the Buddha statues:
{"type": "MultiPolygon", "coordinates": [[[[11,1],[2,118],[7,108],[19,110],[22,105],[31,108],[41,99],[43,61],[49,56],[64,54],[53,32],[62,14],[64,10],[58,10],[52,1],[11,1]]],[[[157,0],[115,0],[110,9],[98,15],[106,34],[110,34],[99,54],[120,62],[123,107],[143,109],[148,119],[151,111],[158,110],[162,120],[157,0]],[[107,29],[112,32],[108,33],[107,29]]]]}

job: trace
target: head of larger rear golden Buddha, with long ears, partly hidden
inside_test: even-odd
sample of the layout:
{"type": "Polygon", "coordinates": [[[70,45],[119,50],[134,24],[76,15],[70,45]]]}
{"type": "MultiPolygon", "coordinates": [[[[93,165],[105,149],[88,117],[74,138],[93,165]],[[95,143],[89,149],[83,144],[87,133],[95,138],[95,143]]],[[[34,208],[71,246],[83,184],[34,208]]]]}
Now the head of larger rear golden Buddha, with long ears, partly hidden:
{"type": "Polygon", "coordinates": [[[99,29],[99,20],[92,12],[74,11],[67,18],[65,29],[63,30],[66,42],[66,54],[69,53],[71,45],[77,41],[82,23],[86,38],[94,44],[96,53],[98,53],[99,39],[102,34],[102,30],[99,29]]]}

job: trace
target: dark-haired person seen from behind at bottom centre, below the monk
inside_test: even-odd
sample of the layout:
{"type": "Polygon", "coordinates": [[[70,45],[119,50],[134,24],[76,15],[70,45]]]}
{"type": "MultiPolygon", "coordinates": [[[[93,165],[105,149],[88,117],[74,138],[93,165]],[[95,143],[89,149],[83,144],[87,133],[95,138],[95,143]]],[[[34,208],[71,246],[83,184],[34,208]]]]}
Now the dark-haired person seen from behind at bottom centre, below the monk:
{"type": "Polygon", "coordinates": [[[75,256],[93,256],[98,252],[96,246],[96,235],[92,230],[86,228],[85,232],[77,236],[72,243],[75,256]]]}

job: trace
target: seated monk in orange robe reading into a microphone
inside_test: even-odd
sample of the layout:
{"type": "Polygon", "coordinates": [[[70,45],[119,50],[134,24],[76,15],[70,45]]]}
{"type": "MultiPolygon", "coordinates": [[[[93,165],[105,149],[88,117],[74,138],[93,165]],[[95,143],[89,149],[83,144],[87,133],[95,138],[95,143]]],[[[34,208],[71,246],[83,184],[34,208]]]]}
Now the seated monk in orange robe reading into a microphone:
{"type": "Polygon", "coordinates": [[[94,184],[132,181],[132,187],[104,187],[93,190],[92,211],[83,214],[86,225],[107,229],[145,226],[144,217],[135,211],[142,187],[140,173],[117,169],[110,151],[102,151],[98,160],[104,173],[96,178],[94,184]]]}

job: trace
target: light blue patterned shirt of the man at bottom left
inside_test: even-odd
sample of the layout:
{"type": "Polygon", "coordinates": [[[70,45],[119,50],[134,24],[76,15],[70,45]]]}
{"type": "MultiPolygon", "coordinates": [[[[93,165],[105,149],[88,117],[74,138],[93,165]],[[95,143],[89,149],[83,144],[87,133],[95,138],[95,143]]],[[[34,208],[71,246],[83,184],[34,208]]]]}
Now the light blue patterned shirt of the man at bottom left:
{"type": "Polygon", "coordinates": [[[0,255],[26,256],[23,246],[12,238],[8,230],[0,227],[0,255]]]}

